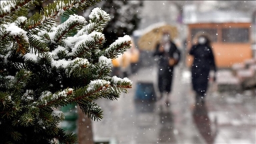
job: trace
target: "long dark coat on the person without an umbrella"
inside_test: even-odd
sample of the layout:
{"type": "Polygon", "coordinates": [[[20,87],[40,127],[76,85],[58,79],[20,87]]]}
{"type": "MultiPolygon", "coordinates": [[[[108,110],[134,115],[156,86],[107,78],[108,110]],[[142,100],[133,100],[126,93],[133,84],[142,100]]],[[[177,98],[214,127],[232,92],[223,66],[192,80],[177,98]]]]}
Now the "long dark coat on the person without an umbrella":
{"type": "Polygon", "coordinates": [[[193,89],[198,95],[204,96],[207,92],[209,72],[211,69],[216,71],[213,51],[207,44],[198,44],[191,47],[189,54],[194,57],[191,67],[193,89]]]}

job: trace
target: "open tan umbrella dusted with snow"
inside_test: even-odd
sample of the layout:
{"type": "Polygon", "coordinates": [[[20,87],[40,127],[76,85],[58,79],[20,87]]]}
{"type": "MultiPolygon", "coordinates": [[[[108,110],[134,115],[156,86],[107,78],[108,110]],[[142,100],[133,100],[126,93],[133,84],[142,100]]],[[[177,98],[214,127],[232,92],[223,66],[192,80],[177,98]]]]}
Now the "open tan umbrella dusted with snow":
{"type": "Polygon", "coordinates": [[[166,23],[157,23],[145,29],[138,41],[139,49],[153,51],[159,43],[163,32],[170,33],[170,39],[178,36],[177,27],[166,23]]]}

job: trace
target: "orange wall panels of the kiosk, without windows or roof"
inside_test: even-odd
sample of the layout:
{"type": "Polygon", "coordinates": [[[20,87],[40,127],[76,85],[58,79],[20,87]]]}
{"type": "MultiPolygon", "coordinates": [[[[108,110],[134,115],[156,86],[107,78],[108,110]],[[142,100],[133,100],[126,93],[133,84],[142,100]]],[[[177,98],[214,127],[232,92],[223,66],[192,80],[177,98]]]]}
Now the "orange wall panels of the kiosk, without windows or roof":
{"type": "MultiPolygon", "coordinates": [[[[215,61],[217,63],[217,67],[219,68],[230,68],[234,63],[242,63],[246,59],[251,59],[252,51],[251,51],[251,43],[223,43],[221,42],[221,31],[219,31],[223,27],[250,27],[250,23],[207,23],[207,24],[193,24],[189,26],[189,35],[187,37],[187,51],[191,48],[191,37],[189,37],[191,28],[209,28],[215,27],[218,29],[218,41],[216,43],[212,43],[213,53],[215,55],[215,61]]],[[[187,66],[191,66],[193,62],[193,57],[187,55],[187,66]]]]}

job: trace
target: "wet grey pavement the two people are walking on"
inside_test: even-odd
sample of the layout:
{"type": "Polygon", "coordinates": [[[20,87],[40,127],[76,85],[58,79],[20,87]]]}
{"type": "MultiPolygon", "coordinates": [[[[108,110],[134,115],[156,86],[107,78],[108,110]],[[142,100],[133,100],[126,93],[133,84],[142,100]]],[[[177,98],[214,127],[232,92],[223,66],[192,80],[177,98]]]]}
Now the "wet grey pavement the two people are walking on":
{"type": "Polygon", "coordinates": [[[256,101],[252,91],[218,93],[209,89],[206,103],[194,105],[190,75],[177,67],[171,105],[163,101],[135,101],[137,83],[152,82],[157,91],[157,67],[141,68],[129,79],[133,89],[118,101],[97,100],[102,121],[93,122],[95,139],[116,143],[256,143],[256,101]]]}

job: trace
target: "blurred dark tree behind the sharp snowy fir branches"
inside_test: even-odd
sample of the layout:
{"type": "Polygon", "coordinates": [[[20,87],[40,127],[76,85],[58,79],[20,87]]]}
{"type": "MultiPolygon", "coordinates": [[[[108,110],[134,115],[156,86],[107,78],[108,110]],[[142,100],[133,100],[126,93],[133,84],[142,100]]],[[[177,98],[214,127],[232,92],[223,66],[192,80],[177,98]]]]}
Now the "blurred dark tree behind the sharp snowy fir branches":
{"type": "MultiPolygon", "coordinates": [[[[103,30],[103,34],[109,36],[106,37],[105,45],[113,43],[115,39],[124,34],[132,35],[141,22],[140,10],[143,7],[143,1],[101,1],[95,7],[101,7],[111,15],[111,20],[103,30]]],[[[88,17],[91,9],[93,7],[89,7],[83,15],[88,17]]]]}

